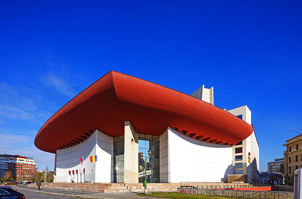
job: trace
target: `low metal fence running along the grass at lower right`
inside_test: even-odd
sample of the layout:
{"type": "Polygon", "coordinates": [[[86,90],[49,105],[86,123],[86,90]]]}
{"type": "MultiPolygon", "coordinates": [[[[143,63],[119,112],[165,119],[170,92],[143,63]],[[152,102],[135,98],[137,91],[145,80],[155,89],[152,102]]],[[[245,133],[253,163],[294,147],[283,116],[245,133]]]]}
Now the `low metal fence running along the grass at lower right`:
{"type": "Polygon", "coordinates": [[[215,189],[190,189],[190,188],[177,188],[177,191],[179,193],[186,193],[186,194],[245,197],[245,198],[255,198],[255,199],[294,199],[293,192],[215,190],[215,189]]]}

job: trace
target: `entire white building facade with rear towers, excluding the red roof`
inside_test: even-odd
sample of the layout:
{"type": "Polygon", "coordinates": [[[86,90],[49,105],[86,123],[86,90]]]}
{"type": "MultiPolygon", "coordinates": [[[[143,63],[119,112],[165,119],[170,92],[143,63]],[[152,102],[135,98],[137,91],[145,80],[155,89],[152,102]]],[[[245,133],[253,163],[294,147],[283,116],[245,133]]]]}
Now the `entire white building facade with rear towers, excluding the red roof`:
{"type": "MultiPolygon", "coordinates": [[[[213,87],[204,85],[191,96],[213,104],[213,87]]],[[[247,106],[229,110],[251,124],[247,106]]],[[[124,135],[108,136],[94,131],[76,146],[57,150],[54,182],[227,182],[228,175],[246,174],[249,182],[257,180],[259,147],[253,132],[236,146],[210,143],[167,128],[160,136],[139,134],[129,121],[124,135]],[[240,149],[240,153],[238,152],[240,149]],[[152,151],[148,157],[148,150],[152,151]],[[147,157],[147,167],[139,158],[147,157]],[[249,154],[250,153],[250,154],[249,154]],[[97,156],[96,162],[90,156],[97,156]],[[240,157],[239,157],[240,156],[240,157]],[[80,174],[80,158],[84,172],[80,174]]]]}

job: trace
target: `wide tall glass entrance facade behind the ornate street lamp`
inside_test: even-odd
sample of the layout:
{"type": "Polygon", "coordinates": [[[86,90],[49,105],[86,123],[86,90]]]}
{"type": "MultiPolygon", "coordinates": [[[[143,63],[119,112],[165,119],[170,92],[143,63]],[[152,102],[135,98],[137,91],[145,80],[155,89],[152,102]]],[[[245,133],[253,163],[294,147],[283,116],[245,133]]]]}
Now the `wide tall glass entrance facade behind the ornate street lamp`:
{"type": "Polygon", "coordinates": [[[138,134],[138,181],[157,183],[160,182],[159,178],[159,136],[138,134]],[[148,150],[152,151],[149,158],[148,150]],[[140,152],[143,153],[143,158],[147,158],[147,166],[145,169],[145,162],[140,159],[140,152]]]}

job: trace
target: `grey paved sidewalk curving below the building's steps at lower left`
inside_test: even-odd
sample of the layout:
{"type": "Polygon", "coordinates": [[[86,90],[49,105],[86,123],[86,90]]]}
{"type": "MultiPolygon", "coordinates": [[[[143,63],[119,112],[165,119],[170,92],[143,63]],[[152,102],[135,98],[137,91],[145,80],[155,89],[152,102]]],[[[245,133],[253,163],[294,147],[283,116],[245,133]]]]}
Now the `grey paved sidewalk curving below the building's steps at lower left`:
{"type": "MultiPolygon", "coordinates": [[[[69,190],[60,190],[60,189],[47,189],[42,188],[38,190],[37,188],[27,187],[26,185],[14,185],[15,188],[24,189],[28,191],[35,191],[47,194],[56,194],[64,196],[73,196],[73,197],[83,197],[83,198],[101,198],[101,199],[146,199],[146,196],[136,196],[135,194],[143,192],[116,192],[116,193],[100,193],[100,192],[89,192],[89,191],[69,191],[69,190]]],[[[148,199],[166,199],[160,197],[149,197],[148,199]]]]}

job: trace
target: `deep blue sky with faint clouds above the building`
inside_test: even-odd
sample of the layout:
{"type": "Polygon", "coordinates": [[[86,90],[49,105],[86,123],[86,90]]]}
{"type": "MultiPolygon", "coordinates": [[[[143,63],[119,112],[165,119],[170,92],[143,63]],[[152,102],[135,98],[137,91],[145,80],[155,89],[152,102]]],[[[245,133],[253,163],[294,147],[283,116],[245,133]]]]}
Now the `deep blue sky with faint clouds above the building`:
{"type": "Polygon", "coordinates": [[[260,171],[302,128],[301,1],[1,1],[1,152],[35,157],[41,126],[110,70],[247,105],[260,171]]]}

